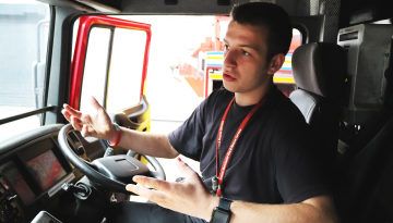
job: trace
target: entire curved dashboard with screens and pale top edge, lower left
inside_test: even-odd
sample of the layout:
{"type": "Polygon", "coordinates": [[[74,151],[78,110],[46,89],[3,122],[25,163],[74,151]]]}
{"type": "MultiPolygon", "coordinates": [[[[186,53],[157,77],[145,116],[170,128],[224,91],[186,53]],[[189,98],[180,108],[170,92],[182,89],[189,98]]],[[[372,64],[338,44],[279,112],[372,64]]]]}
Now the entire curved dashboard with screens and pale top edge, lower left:
{"type": "MultiPolygon", "coordinates": [[[[62,126],[43,126],[0,144],[0,223],[26,222],[58,206],[61,186],[81,177],[58,146],[62,126]]],[[[81,147],[75,133],[69,140],[81,147]]]]}

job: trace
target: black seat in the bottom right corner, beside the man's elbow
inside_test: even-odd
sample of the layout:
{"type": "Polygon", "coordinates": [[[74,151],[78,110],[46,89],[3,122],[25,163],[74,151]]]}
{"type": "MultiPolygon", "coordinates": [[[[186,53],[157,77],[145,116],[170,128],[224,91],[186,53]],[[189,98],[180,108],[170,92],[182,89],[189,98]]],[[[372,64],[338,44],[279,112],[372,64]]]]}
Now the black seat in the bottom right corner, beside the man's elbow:
{"type": "Polygon", "coordinates": [[[338,170],[337,211],[347,223],[393,222],[393,116],[338,170]]]}

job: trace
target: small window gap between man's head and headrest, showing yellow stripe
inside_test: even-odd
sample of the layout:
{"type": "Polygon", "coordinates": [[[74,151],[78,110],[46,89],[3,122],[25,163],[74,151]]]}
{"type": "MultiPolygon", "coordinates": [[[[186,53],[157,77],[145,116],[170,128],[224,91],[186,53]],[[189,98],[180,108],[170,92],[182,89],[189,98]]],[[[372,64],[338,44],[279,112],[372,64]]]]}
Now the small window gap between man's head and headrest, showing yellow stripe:
{"type": "Polygon", "coordinates": [[[293,29],[293,40],[290,42],[289,51],[285,55],[285,62],[282,69],[274,74],[273,82],[277,88],[286,96],[296,89],[296,83],[291,70],[291,55],[296,48],[301,45],[301,33],[299,29],[293,29]]]}

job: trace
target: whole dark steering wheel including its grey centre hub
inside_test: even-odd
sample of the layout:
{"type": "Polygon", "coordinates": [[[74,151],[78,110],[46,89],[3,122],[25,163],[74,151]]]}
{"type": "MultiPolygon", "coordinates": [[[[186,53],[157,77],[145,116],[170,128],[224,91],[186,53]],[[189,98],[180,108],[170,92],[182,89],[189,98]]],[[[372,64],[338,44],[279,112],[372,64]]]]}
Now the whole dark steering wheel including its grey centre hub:
{"type": "Polygon", "coordinates": [[[93,162],[81,159],[68,141],[67,136],[71,131],[73,131],[71,124],[61,127],[58,136],[60,149],[66,158],[85,174],[93,184],[97,184],[111,191],[132,194],[126,189],[126,185],[134,184],[132,181],[134,175],[146,175],[165,179],[165,173],[160,164],[150,161],[150,159],[147,161],[150,161],[155,171],[148,170],[144,163],[128,154],[104,157],[93,162]]]}

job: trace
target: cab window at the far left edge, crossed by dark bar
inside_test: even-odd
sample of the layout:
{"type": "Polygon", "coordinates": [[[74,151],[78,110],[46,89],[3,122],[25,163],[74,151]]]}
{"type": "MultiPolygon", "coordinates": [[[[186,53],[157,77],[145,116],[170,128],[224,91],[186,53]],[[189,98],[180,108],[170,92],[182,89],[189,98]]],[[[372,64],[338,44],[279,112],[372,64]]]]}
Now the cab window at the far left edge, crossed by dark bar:
{"type": "Polygon", "coordinates": [[[0,140],[41,125],[49,14],[37,1],[0,1],[0,140]]]}

